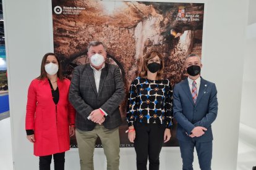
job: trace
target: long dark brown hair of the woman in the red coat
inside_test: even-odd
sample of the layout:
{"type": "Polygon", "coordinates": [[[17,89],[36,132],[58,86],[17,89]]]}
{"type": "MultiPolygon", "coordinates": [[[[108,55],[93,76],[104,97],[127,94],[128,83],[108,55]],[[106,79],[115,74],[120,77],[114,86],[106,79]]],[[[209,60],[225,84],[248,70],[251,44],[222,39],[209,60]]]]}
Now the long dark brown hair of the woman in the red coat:
{"type": "Polygon", "coordinates": [[[48,52],[48,53],[46,53],[46,54],[43,56],[43,59],[42,59],[42,62],[41,62],[41,74],[40,74],[40,76],[38,76],[37,79],[42,80],[42,79],[47,78],[47,76],[46,76],[46,71],[45,71],[45,63],[46,63],[47,57],[48,57],[49,55],[54,55],[54,57],[55,57],[56,60],[58,61],[59,70],[58,70],[58,72],[57,72],[57,76],[58,76],[58,78],[62,81],[62,80],[64,79],[64,76],[62,75],[61,62],[59,62],[59,58],[57,57],[57,55],[54,54],[54,53],[51,53],[51,52],[48,52]]]}

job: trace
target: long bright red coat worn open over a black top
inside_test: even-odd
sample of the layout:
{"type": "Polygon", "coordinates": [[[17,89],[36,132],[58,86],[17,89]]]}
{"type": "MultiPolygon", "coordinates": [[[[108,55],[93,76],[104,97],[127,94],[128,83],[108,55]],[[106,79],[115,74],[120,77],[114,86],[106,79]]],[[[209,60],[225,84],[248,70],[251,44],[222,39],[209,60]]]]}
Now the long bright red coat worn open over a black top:
{"type": "Polygon", "coordinates": [[[45,156],[69,150],[69,125],[75,110],[69,103],[69,79],[58,79],[59,102],[53,102],[48,79],[33,79],[28,88],[26,130],[35,132],[34,155],[45,156]]]}

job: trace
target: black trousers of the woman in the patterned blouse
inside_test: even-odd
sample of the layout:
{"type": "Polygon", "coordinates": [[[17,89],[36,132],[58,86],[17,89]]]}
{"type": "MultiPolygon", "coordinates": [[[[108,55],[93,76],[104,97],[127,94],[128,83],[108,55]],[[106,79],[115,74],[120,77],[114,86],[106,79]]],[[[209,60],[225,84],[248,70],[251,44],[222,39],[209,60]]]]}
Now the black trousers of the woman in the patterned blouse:
{"type": "Polygon", "coordinates": [[[159,155],[163,145],[165,126],[163,124],[134,123],[136,132],[134,148],[138,170],[158,170],[160,161],[159,155]]]}

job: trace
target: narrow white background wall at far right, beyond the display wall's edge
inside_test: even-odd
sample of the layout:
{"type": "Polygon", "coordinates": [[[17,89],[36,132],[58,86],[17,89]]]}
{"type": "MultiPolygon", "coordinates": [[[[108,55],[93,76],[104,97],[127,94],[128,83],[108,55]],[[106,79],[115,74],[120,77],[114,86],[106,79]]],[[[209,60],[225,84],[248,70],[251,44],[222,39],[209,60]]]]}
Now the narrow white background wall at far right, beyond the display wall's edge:
{"type": "MultiPolygon", "coordinates": [[[[256,63],[256,1],[249,1],[248,25],[246,28],[246,41],[244,52],[244,78],[242,86],[242,102],[241,102],[241,123],[249,126],[256,131],[256,79],[255,79],[255,63],[256,63]]],[[[256,139],[256,138],[255,138],[256,139]]]]}

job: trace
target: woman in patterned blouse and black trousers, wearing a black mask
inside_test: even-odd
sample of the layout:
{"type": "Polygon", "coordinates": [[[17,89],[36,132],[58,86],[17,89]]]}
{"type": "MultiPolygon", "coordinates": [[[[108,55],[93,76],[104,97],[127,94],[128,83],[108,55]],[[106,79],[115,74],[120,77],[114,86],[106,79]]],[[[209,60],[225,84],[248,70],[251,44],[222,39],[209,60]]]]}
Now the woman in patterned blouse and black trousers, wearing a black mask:
{"type": "Polygon", "coordinates": [[[128,138],[134,143],[137,169],[159,169],[163,142],[171,138],[173,90],[163,79],[163,57],[156,51],[143,58],[140,76],[130,84],[127,106],[128,138]],[[135,136],[136,134],[136,136],[135,136]]]}

